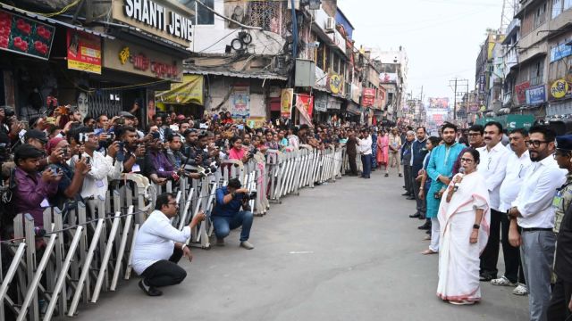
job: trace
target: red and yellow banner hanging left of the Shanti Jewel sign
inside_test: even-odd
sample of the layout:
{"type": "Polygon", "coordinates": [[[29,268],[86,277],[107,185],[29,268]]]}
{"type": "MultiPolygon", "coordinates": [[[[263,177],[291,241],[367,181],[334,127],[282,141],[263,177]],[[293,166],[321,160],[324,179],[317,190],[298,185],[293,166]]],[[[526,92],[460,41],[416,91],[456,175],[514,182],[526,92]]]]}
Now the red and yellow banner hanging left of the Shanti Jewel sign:
{"type": "Polygon", "coordinates": [[[68,69],[101,75],[101,38],[67,29],[68,69]]]}

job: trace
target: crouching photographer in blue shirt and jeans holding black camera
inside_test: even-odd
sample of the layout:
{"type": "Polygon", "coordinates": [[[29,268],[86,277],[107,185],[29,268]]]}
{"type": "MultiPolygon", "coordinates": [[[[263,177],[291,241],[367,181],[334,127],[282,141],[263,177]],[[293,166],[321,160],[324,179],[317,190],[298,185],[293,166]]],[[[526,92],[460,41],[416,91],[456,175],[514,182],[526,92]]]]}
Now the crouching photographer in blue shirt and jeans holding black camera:
{"type": "Polygon", "coordinates": [[[229,185],[216,189],[216,205],[211,216],[216,235],[216,245],[224,245],[224,237],[231,233],[232,229],[242,226],[240,232],[240,246],[254,249],[254,245],[248,242],[250,227],[252,227],[252,212],[247,209],[248,189],[240,188],[240,180],[232,178],[229,185]],[[240,210],[244,207],[244,210],[240,210]]]}

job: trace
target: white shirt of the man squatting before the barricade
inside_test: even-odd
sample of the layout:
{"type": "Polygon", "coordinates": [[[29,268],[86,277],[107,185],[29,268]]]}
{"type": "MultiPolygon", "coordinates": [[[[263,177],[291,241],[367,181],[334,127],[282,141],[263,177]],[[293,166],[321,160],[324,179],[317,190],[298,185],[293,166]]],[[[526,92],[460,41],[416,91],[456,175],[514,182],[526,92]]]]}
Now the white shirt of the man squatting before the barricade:
{"type": "Polygon", "coordinates": [[[189,226],[180,231],[161,210],[154,210],[135,235],[131,266],[140,276],[155,262],[171,258],[175,242],[185,243],[189,237],[189,226]]]}

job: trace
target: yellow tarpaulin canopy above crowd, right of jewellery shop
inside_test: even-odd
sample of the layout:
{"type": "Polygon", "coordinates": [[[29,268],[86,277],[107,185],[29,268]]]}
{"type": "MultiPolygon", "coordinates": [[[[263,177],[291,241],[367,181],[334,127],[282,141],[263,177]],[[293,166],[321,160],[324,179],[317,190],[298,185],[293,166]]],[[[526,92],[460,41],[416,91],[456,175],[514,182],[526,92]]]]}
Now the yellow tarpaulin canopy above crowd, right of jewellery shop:
{"type": "Polygon", "coordinates": [[[171,90],[161,92],[155,98],[162,103],[195,103],[203,106],[203,84],[202,75],[184,75],[182,84],[172,84],[171,90]]]}

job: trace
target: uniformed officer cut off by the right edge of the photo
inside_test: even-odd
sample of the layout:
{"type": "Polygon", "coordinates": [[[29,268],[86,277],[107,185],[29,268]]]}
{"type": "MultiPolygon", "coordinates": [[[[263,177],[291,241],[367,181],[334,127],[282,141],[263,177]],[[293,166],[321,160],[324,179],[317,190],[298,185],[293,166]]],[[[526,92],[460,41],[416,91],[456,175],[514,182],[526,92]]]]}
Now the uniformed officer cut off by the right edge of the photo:
{"type": "Polygon", "coordinates": [[[556,137],[554,159],[560,169],[568,169],[566,183],[554,197],[554,232],[557,234],[554,273],[556,284],[547,310],[548,320],[567,320],[572,316],[572,135],[556,137]]]}

